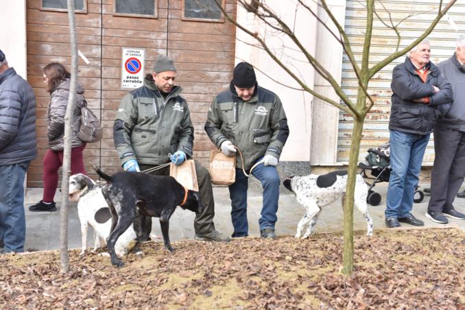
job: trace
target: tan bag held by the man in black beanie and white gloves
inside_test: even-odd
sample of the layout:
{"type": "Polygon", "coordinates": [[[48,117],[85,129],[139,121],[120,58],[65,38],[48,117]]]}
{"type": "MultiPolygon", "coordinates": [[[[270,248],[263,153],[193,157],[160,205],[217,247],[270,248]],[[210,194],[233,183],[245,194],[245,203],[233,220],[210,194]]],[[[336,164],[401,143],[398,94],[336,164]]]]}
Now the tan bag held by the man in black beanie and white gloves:
{"type": "Polygon", "coordinates": [[[226,156],[219,150],[212,150],[209,168],[213,184],[230,185],[236,181],[236,156],[226,156]]]}

